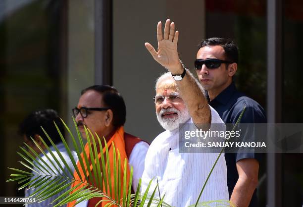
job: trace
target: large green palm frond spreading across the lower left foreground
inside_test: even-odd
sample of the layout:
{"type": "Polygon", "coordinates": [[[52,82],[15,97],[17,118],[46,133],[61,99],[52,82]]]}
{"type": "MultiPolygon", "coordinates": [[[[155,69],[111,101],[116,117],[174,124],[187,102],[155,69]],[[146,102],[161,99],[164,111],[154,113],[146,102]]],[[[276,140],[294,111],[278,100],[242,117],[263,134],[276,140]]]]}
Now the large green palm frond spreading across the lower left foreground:
{"type": "MultiPolygon", "coordinates": [[[[52,142],[48,133],[42,128],[46,137],[50,141],[51,146],[48,146],[45,140],[41,138],[42,143],[46,147],[46,151],[44,151],[38,143],[32,139],[34,144],[41,151],[41,155],[43,155],[42,158],[41,155],[38,155],[38,153],[36,153],[29,145],[24,143],[29,149],[29,152],[20,148],[21,152],[17,152],[17,154],[23,159],[20,163],[25,166],[29,172],[16,168],[9,168],[17,173],[11,174],[11,178],[8,179],[7,182],[17,181],[21,185],[19,190],[28,186],[33,190],[30,197],[35,198],[36,202],[43,202],[65,190],[51,202],[54,207],[62,206],[75,200],[76,204],[78,204],[94,197],[102,198],[100,203],[108,202],[105,206],[115,205],[119,207],[129,207],[133,204],[137,205],[140,199],[145,201],[145,199],[150,198],[148,196],[148,190],[150,187],[144,193],[144,196],[141,196],[141,180],[139,181],[136,194],[131,194],[133,169],[130,167],[128,175],[127,159],[123,160],[122,166],[119,150],[114,146],[114,143],[112,143],[113,167],[111,168],[108,164],[110,163],[109,149],[104,138],[103,142],[101,142],[101,139],[97,134],[94,136],[89,129],[84,127],[85,133],[88,137],[89,154],[87,155],[86,153],[82,153],[85,152],[85,146],[75,119],[73,118],[76,128],[76,136],[73,135],[62,119],[61,121],[71,137],[72,145],[79,159],[78,164],[58,126],[55,123],[54,125],[61,137],[72,166],[75,168],[75,172],[69,167],[67,160],[65,160],[60,150],[52,142]],[[77,144],[77,141],[80,146],[77,144]],[[104,146],[102,146],[102,143],[104,143],[104,146]],[[104,156],[102,154],[103,147],[105,149],[104,156]],[[98,157],[98,150],[101,153],[100,157],[98,157]],[[88,175],[86,173],[81,174],[81,170],[85,169],[88,169],[88,175]],[[79,179],[74,177],[74,173],[78,175],[79,179]],[[114,175],[113,178],[110,176],[111,173],[114,175]],[[92,178],[92,182],[89,182],[89,178],[92,178]],[[129,179],[128,185],[127,179],[129,179]],[[78,182],[78,184],[69,188],[74,182],[78,182]],[[102,189],[103,186],[105,186],[105,189],[102,189]],[[67,188],[69,189],[66,190],[67,188]]],[[[152,199],[150,202],[152,202],[152,199]]],[[[142,206],[143,203],[140,205],[142,206]]]]}

